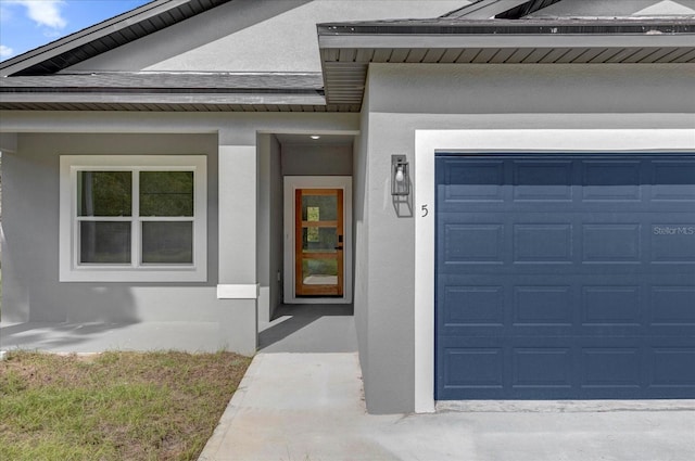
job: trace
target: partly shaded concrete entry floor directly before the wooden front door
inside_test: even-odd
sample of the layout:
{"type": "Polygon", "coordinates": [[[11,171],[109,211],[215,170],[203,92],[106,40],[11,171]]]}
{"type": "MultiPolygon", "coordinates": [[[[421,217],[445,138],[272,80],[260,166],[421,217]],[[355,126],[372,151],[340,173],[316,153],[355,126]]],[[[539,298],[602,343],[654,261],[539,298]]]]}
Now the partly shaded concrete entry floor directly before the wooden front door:
{"type": "Polygon", "coordinates": [[[283,304],[258,324],[262,353],[356,353],[352,305],[283,304]]]}

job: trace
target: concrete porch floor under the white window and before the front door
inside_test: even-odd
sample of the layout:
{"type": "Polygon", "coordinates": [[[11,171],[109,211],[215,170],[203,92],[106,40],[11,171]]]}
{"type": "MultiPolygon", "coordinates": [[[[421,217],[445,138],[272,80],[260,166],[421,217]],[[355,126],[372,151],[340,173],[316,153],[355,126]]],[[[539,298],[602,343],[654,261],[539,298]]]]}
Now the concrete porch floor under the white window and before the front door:
{"type": "MultiPolygon", "coordinates": [[[[217,322],[0,323],[0,349],[51,353],[104,350],[227,349],[217,322]]],[[[273,321],[258,324],[264,353],[357,351],[351,305],[282,305],[273,321]]]]}

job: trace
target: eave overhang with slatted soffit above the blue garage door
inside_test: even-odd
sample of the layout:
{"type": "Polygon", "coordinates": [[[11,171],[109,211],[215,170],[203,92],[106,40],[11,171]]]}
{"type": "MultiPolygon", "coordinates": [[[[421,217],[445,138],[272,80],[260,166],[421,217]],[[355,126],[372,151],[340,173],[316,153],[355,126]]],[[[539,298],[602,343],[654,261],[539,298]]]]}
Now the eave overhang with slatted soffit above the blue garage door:
{"type": "Polygon", "coordinates": [[[415,20],[318,25],[329,104],[361,104],[370,63],[695,62],[695,18],[415,20]]]}

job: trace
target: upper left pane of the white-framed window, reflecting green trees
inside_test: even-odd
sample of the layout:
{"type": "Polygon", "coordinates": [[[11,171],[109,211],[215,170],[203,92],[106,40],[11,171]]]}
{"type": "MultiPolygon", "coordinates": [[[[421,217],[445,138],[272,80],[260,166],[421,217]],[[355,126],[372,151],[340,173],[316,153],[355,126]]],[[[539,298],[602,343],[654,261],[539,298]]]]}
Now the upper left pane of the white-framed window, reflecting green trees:
{"type": "Polygon", "coordinates": [[[79,216],[131,216],[130,171],[78,171],[79,216]]]}

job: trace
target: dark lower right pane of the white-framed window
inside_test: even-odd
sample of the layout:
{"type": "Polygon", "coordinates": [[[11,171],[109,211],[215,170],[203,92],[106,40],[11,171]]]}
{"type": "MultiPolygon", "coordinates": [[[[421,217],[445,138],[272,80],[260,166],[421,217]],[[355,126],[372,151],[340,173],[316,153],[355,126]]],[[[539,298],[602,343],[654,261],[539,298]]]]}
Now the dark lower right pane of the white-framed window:
{"type": "Polygon", "coordinates": [[[142,222],[142,262],[193,264],[193,223],[142,222]]]}

